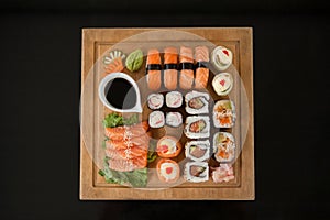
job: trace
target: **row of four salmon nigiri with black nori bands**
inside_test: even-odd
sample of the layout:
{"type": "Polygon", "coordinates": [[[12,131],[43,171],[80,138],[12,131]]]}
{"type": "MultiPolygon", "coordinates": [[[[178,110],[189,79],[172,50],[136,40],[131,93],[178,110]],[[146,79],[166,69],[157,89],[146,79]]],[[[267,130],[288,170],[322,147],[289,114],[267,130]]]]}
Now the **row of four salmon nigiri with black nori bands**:
{"type": "Polygon", "coordinates": [[[147,85],[151,90],[162,86],[162,69],[164,69],[164,86],[168,90],[206,88],[209,79],[209,50],[206,46],[180,46],[164,50],[164,64],[156,48],[148,50],[146,58],[147,85]]]}

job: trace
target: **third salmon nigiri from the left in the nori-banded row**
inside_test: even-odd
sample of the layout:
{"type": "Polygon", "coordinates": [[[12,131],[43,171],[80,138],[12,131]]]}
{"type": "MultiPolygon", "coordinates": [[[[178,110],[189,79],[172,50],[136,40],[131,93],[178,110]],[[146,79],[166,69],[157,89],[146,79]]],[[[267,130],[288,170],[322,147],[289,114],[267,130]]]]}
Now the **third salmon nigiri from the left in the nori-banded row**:
{"type": "Polygon", "coordinates": [[[194,57],[193,50],[190,47],[182,46],[180,47],[180,87],[183,89],[191,89],[194,82],[194,57]]]}

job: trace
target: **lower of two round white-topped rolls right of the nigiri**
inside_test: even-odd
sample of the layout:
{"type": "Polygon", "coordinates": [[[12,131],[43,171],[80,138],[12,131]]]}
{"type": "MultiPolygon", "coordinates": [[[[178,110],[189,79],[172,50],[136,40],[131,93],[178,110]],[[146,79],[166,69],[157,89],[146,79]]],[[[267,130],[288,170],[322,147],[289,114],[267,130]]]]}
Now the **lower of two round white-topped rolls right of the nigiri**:
{"type": "Polygon", "coordinates": [[[229,73],[218,74],[212,80],[212,86],[219,96],[226,96],[233,87],[233,78],[229,73]]]}

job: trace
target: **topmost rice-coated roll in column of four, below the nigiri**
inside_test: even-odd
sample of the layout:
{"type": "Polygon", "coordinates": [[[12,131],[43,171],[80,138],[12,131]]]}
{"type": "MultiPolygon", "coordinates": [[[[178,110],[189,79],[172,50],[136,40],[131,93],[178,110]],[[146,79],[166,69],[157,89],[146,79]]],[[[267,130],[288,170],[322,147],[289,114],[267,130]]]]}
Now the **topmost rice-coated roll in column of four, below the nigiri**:
{"type": "Polygon", "coordinates": [[[189,91],[185,96],[186,111],[190,114],[209,113],[209,99],[207,92],[189,91]]]}

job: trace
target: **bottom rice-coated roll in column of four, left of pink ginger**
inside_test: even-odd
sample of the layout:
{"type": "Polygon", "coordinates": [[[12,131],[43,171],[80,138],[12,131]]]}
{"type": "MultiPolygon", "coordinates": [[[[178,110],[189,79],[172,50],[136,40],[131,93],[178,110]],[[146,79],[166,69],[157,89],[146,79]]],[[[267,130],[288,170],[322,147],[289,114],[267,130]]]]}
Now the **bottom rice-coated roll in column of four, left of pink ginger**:
{"type": "Polygon", "coordinates": [[[185,179],[191,183],[209,180],[209,165],[207,162],[187,162],[185,165],[185,179]]]}

